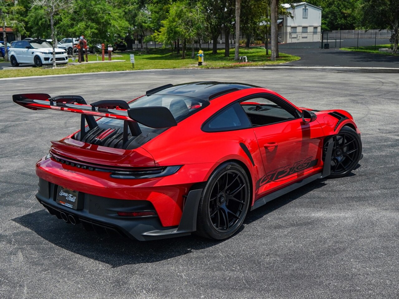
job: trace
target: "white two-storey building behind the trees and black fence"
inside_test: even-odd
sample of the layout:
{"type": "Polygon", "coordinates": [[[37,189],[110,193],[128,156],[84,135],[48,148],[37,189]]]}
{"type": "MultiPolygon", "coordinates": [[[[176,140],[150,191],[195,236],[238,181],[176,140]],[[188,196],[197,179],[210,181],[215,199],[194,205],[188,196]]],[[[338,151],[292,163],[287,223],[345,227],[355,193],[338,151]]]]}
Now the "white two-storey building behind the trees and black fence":
{"type": "Polygon", "coordinates": [[[322,8],[306,2],[282,4],[290,16],[280,16],[277,21],[280,43],[313,42],[320,39],[322,8]]]}

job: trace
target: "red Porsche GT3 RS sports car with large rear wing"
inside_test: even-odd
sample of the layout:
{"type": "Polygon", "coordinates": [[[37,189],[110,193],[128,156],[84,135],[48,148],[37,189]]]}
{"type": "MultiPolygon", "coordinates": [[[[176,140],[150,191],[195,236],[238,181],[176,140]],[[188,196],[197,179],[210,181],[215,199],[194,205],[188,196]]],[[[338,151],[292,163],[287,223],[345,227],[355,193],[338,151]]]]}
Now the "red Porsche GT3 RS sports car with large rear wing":
{"type": "Polygon", "coordinates": [[[241,83],[165,85],[129,103],[48,94],[13,100],[81,114],[80,130],[51,142],[36,164],[38,201],[65,222],[137,240],[228,238],[248,210],[315,179],[344,176],[362,157],[350,113],[297,107],[241,83]]]}

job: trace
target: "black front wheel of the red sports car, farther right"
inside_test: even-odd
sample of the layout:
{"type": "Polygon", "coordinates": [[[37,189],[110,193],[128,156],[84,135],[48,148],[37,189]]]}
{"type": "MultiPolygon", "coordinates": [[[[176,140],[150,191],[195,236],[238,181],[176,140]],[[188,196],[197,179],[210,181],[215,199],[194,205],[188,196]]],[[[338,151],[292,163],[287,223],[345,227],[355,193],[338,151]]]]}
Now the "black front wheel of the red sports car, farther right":
{"type": "MultiPolygon", "coordinates": [[[[361,156],[361,140],[355,130],[344,127],[337,135],[329,138],[323,148],[323,159],[325,159],[327,146],[333,142],[331,155],[330,177],[343,177],[350,173],[358,165],[361,156]]],[[[328,158],[324,161],[328,161],[328,158]]]]}

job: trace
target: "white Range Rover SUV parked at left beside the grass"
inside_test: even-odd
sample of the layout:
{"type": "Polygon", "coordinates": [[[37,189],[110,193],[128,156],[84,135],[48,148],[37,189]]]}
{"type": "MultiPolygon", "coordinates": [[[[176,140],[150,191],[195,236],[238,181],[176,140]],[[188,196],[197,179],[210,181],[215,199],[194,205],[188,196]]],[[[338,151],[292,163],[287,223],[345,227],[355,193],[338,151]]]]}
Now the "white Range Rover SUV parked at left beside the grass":
{"type": "MultiPolygon", "coordinates": [[[[37,67],[53,63],[53,46],[45,39],[15,41],[8,50],[13,67],[20,63],[34,63],[37,67]]],[[[63,49],[55,48],[55,63],[68,63],[68,54],[63,49]]]]}

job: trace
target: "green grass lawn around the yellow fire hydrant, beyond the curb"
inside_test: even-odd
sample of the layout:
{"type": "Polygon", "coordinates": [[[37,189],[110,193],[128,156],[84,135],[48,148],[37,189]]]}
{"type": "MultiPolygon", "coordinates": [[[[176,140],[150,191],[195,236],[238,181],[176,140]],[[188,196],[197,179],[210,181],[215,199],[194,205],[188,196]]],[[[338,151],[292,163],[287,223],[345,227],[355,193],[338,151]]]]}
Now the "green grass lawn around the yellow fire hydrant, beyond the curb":
{"type": "MultiPolygon", "coordinates": [[[[211,51],[204,51],[205,63],[198,66],[198,58],[191,58],[191,51],[187,53],[186,59],[181,59],[181,54],[171,52],[170,49],[149,49],[144,51],[132,51],[126,53],[113,53],[113,59],[125,60],[123,62],[111,63],[80,63],[79,65],[58,65],[56,69],[51,67],[32,67],[0,71],[0,78],[42,76],[42,75],[61,75],[76,73],[94,73],[111,71],[134,71],[130,63],[130,54],[134,54],[134,70],[144,69],[178,69],[178,68],[221,68],[221,67],[247,67],[261,66],[270,64],[286,63],[296,61],[300,57],[280,53],[277,61],[270,61],[270,55],[266,55],[265,49],[240,49],[240,56],[247,56],[247,63],[234,61],[234,49],[230,50],[230,56],[224,57],[224,50],[219,50],[217,54],[211,51]]],[[[270,53],[270,51],[269,51],[270,53]]],[[[197,54],[197,52],[196,52],[197,54]]],[[[89,61],[101,61],[101,55],[90,54],[89,61]]],[[[105,59],[108,60],[107,55],[105,59]]],[[[69,62],[72,62],[69,59],[69,62]]]]}

